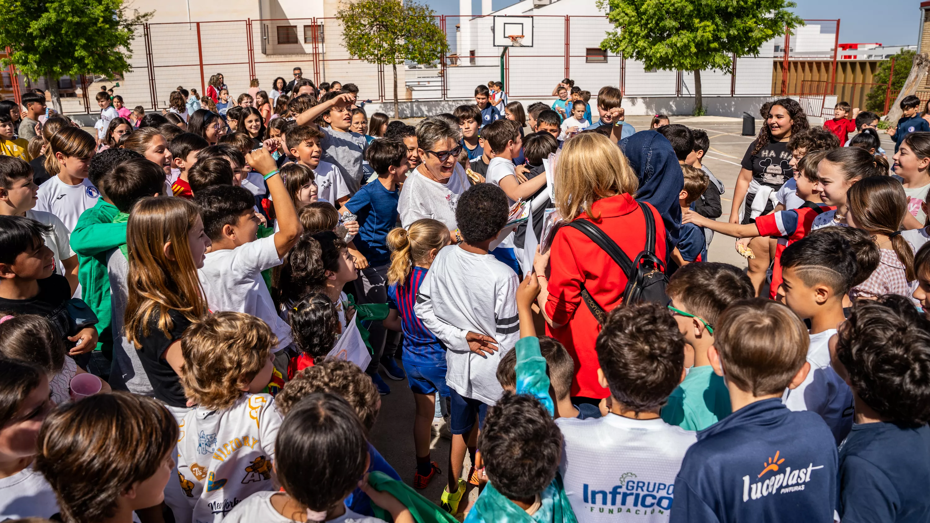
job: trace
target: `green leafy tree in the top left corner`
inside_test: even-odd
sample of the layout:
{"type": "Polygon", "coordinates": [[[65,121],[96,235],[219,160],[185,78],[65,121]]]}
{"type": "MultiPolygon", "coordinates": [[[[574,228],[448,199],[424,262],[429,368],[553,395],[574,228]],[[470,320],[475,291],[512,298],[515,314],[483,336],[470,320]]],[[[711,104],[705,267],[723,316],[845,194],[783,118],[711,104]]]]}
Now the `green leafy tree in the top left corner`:
{"type": "Polygon", "coordinates": [[[16,0],[0,8],[3,66],[46,78],[55,110],[61,112],[58,80],[80,74],[113,76],[130,71],[132,24],[151,16],[129,12],[123,0],[16,0]]]}

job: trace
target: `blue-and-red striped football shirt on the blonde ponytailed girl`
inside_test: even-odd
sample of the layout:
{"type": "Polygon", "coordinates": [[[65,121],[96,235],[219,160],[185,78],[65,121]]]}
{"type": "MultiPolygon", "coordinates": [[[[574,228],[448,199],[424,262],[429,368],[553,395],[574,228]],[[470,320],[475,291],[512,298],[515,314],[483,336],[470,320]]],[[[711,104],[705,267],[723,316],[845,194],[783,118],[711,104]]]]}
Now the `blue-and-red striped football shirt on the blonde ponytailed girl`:
{"type": "Polygon", "coordinates": [[[401,329],[404,332],[404,353],[401,359],[405,364],[419,367],[445,365],[443,343],[423,325],[423,322],[413,312],[413,306],[417,303],[419,286],[423,283],[427,271],[422,267],[414,267],[404,285],[394,284],[388,287],[388,305],[392,309],[397,309],[401,316],[401,329]]]}

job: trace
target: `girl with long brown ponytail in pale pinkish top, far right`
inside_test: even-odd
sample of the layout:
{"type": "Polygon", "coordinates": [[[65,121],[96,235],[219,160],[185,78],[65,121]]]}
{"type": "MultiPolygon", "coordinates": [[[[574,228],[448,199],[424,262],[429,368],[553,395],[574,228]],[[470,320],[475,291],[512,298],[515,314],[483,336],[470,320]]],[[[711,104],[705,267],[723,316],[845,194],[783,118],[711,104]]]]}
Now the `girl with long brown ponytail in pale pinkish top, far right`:
{"type": "Polygon", "coordinates": [[[846,194],[847,219],[878,244],[881,258],[869,279],[850,290],[850,298],[875,298],[900,294],[910,298],[916,287],[914,251],[901,235],[901,222],[908,213],[908,197],[901,183],[888,176],[858,181],[846,194]]]}

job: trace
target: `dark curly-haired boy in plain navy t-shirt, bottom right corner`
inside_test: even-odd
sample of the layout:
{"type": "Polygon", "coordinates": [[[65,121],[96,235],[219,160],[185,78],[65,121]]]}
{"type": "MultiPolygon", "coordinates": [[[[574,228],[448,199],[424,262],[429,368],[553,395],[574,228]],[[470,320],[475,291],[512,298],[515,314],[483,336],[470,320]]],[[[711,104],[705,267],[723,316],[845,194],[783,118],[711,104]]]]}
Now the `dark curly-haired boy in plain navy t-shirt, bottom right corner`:
{"type": "Polygon", "coordinates": [[[930,386],[909,378],[930,360],[923,324],[908,298],[887,295],[858,305],[837,334],[832,366],[856,404],[840,446],[844,522],[930,520],[930,386]]]}

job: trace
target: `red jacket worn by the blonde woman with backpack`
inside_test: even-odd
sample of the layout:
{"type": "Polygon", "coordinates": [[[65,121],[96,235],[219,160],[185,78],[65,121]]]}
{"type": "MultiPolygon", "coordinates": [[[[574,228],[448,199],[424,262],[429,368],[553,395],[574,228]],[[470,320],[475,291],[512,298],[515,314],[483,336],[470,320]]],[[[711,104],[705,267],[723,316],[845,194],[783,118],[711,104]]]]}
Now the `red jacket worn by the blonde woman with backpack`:
{"type": "MultiPolygon", "coordinates": [[[[656,254],[666,259],[665,225],[658,210],[647,204],[656,221],[656,254]]],[[[610,236],[630,257],[636,256],[645,247],[645,219],[631,194],[618,194],[594,202],[591,206],[598,220],[591,220],[582,213],[580,219],[592,221],[610,236]]],[[[564,327],[551,329],[547,333],[562,342],[568,354],[575,360],[575,381],[572,396],[606,397],[610,392],[597,382],[597,353],[594,342],[601,326],[591,315],[588,306],[581,301],[581,283],[605,311],[616,307],[623,298],[627,276],[617,262],[603,249],[597,247],[588,236],[572,227],[562,227],[552,240],[551,275],[549,277],[549,301],[546,314],[553,323],[564,327]]]]}

